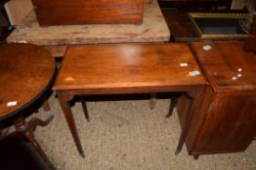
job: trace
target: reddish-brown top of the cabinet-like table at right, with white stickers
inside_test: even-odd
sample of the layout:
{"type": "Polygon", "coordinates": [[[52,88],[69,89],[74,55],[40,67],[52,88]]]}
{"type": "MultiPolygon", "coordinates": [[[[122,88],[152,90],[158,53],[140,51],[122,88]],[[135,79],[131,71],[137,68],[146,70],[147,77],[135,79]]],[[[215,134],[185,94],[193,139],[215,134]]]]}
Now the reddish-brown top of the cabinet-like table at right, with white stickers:
{"type": "Polygon", "coordinates": [[[245,52],[241,42],[193,43],[200,65],[214,90],[256,88],[256,54],[245,52]],[[210,47],[205,51],[203,47],[210,47]]]}

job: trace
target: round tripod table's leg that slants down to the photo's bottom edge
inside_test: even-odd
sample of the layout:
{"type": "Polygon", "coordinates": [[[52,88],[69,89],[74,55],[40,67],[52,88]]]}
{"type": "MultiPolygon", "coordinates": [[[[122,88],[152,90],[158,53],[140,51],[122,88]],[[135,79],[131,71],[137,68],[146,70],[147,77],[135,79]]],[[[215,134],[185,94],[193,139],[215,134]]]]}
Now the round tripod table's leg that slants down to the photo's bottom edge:
{"type": "MultiPolygon", "coordinates": [[[[44,121],[42,121],[44,122],[44,121]]],[[[44,153],[43,149],[40,147],[40,145],[37,143],[36,139],[34,138],[33,130],[29,128],[29,122],[26,123],[22,117],[15,119],[14,121],[15,127],[16,127],[16,135],[21,135],[24,138],[26,138],[31,144],[32,147],[35,149],[35,151],[43,158],[47,166],[55,170],[54,165],[52,162],[48,159],[47,155],[44,153]]],[[[45,124],[45,123],[44,123],[45,124]]]]}

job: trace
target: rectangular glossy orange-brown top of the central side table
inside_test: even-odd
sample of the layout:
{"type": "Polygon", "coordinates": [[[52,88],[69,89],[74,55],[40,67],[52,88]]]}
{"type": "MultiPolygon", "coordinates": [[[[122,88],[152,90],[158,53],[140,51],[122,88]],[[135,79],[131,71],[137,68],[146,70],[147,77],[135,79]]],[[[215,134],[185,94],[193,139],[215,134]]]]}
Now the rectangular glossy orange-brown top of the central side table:
{"type": "Polygon", "coordinates": [[[206,82],[187,44],[102,44],[69,46],[53,89],[192,85],[206,82]]]}

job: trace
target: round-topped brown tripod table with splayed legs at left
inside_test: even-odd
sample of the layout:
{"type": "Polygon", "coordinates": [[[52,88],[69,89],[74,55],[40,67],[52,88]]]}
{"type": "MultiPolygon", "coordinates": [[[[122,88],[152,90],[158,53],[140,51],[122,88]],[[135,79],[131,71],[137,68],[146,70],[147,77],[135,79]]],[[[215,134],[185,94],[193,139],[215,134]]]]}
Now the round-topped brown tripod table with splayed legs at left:
{"type": "Polygon", "coordinates": [[[16,131],[10,136],[30,142],[48,167],[55,169],[33,135],[37,125],[45,126],[53,117],[24,120],[52,85],[55,60],[48,51],[28,44],[3,44],[0,51],[0,129],[14,124],[16,131]]]}

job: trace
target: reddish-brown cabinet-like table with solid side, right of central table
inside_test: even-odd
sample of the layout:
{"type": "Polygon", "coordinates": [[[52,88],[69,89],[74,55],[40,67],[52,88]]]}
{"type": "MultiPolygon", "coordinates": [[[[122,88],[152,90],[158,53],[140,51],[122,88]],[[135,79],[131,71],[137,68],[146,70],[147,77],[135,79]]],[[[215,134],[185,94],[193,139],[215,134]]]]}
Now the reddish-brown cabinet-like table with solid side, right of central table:
{"type": "MultiPolygon", "coordinates": [[[[242,152],[256,136],[256,54],[241,42],[192,43],[210,85],[200,107],[193,107],[186,139],[190,154],[242,152]],[[203,50],[203,49],[206,49],[203,50]]],[[[178,105],[184,125],[187,97],[178,105]]]]}

